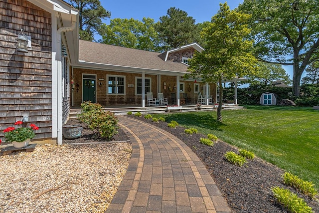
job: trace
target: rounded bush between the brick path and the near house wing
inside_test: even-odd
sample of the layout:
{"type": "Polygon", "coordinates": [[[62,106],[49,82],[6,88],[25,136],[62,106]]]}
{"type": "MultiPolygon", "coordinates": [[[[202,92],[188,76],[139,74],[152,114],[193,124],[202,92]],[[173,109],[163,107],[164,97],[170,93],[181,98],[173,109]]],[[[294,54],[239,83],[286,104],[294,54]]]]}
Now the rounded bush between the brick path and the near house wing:
{"type": "Polygon", "coordinates": [[[113,112],[104,111],[100,104],[92,102],[84,102],[81,108],[78,118],[94,132],[96,138],[110,139],[117,133],[118,119],[113,112]]]}

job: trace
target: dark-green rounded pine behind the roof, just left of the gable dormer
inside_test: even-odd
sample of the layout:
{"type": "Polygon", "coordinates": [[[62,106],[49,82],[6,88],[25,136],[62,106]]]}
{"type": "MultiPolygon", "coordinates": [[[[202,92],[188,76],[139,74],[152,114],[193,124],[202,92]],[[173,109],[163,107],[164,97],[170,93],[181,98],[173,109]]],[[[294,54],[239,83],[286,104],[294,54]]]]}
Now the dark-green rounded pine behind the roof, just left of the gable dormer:
{"type": "Polygon", "coordinates": [[[167,15],[161,16],[160,21],[155,24],[165,47],[176,48],[195,41],[197,27],[195,19],[187,16],[187,12],[170,7],[167,15]]]}

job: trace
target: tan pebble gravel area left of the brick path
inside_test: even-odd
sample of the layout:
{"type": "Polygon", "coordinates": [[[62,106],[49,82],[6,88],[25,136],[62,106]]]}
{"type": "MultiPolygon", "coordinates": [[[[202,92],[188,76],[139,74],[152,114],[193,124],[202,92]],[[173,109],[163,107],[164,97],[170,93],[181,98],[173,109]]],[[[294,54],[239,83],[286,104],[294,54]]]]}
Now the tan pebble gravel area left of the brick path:
{"type": "Polygon", "coordinates": [[[103,213],[125,175],[132,146],[86,137],[73,142],[92,144],[0,153],[0,213],[103,213]]]}

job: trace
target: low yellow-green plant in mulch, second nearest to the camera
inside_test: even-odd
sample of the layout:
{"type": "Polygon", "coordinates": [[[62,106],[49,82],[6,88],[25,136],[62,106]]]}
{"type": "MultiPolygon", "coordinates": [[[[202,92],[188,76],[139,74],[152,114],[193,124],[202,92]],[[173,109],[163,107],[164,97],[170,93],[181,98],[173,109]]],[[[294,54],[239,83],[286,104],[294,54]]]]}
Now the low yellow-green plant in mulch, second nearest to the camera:
{"type": "Polygon", "coordinates": [[[311,198],[315,198],[318,195],[318,191],[315,188],[313,182],[304,181],[298,176],[295,176],[291,173],[285,172],[283,174],[284,184],[294,187],[295,189],[301,191],[304,195],[311,198]]]}

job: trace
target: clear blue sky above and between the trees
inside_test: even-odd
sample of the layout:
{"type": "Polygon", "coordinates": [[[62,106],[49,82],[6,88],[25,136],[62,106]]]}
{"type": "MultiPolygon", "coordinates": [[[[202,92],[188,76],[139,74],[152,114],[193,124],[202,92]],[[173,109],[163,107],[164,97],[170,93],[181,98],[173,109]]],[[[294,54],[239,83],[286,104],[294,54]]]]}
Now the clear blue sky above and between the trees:
{"type": "MultiPolygon", "coordinates": [[[[216,0],[100,0],[102,6],[111,12],[113,18],[134,18],[142,20],[150,17],[159,21],[160,16],[166,15],[169,7],[176,7],[192,16],[196,23],[210,21],[211,17],[219,10],[219,3],[225,1],[216,0]]],[[[230,9],[236,8],[243,0],[228,0],[230,9]]],[[[105,23],[110,23],[108,18],[105,23]]],[[[283,66],[290,78],[293,78],[293,67],[283,66]]],[[[304,72],[305,75],[305,72],[304,72]]],[[[303,76],[304,76],[303,75],[303,76]]]]}

